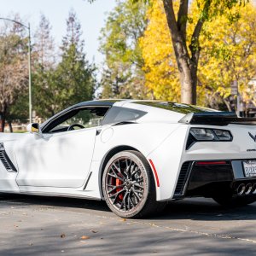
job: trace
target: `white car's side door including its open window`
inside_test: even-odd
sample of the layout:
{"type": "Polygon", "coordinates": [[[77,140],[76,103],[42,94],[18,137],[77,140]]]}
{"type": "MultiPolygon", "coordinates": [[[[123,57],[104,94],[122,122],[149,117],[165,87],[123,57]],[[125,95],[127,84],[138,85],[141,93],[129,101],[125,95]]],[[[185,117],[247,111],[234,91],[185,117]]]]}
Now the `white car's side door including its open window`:
{"type": "Polygon", "coordinates": [[[102,118],[95,114],[95,110],[93,118],[88,117],[90,111],[91,108],[83,108],[74,115],[67,113],[67,119],[61,116],[53,120],[53,124],[49,124],[49,131],[43,132],[41,136],[26,134],[15,150],[19,166],[16,181],[19,186],[83,186],[90,170],[97,125],[102,118]],[[79,113],[83,112],[86,120],[81,122],[83,114],[79,116],[79,113]],[[73,122],[86,127],[67,131],[68,125],[73,122]]]}

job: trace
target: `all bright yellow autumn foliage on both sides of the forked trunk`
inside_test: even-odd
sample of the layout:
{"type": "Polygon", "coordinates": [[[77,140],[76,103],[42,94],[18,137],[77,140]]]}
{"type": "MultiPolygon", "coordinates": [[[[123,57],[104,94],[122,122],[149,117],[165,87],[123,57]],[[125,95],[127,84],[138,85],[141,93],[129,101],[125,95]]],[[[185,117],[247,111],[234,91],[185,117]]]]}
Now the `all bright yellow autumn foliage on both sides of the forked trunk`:
{"type": "MultiPolygon", "coordinates": [[[[203,27],[197,90],[197,101],[201,105],[216,107],[216,103],[221,105],[225,102],[230,108],[226,99],[230,96],[233,80],[241,84],[243,98],[247,102],[252,99],[253,94],[247,84],[255,76],[256,69],[256,10],[251,4],[237,5],[230,9],[230,17],[236,17],[238,10],[241,10],[241,16],[237,15],[233,22],[230,22],[229,15],[218,16],[203,27]]],[[[201,0],[195,0],[189,10],[188,40],[199,15],[201,0]]],[[[148,20],[148,27],[140,39],[146,86],[154,92],[156,99],[179,101],[177,64],[162,1],[154,1],[148,10],[148,20]]]]}

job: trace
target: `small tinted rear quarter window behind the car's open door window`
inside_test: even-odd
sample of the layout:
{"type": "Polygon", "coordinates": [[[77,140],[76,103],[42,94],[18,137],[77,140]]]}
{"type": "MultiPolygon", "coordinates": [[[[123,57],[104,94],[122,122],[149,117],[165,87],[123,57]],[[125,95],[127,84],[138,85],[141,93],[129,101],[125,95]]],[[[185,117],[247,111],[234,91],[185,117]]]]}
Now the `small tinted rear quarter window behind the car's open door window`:
{"type": "Polygon", "coordinates": [[[146,113],[147,112],[132,108],[113,107],[108,111],[105,118],[102,120],[102,125],[115,124],[125,121],[135,121],[146,113]]]}

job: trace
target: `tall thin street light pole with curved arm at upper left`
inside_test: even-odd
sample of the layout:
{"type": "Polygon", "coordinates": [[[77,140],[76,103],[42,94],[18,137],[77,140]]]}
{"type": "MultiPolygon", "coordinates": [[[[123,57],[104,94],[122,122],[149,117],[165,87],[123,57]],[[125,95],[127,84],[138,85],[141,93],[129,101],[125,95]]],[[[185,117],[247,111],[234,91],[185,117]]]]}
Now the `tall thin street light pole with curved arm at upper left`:
{"type": "Polygon", "coordinates": [[[23,26],[28,31],[28,95],[29,95],[29,122],[32,123],[32,69],[31,69],[31,31],[30,31],[30,23],[28,26],[20,23],[17,20],[11,20],[8,18],[0,18],[0,20],[8,20],[14,22],[20,26],[23,26]]]}

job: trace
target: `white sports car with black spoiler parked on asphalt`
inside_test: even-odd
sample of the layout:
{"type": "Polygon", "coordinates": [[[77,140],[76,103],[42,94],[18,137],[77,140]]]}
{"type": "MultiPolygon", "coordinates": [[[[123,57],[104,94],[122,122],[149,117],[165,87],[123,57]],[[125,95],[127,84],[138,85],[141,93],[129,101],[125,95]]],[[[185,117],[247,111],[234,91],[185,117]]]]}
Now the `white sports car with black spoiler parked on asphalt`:
{"type": "Polygon", "coordinates": [[[256,200],[255,125],[174,102],[82,102],[0,135],[0,190],[105,200],[123,218],[190,196],[245,205],[256,200]]]}

